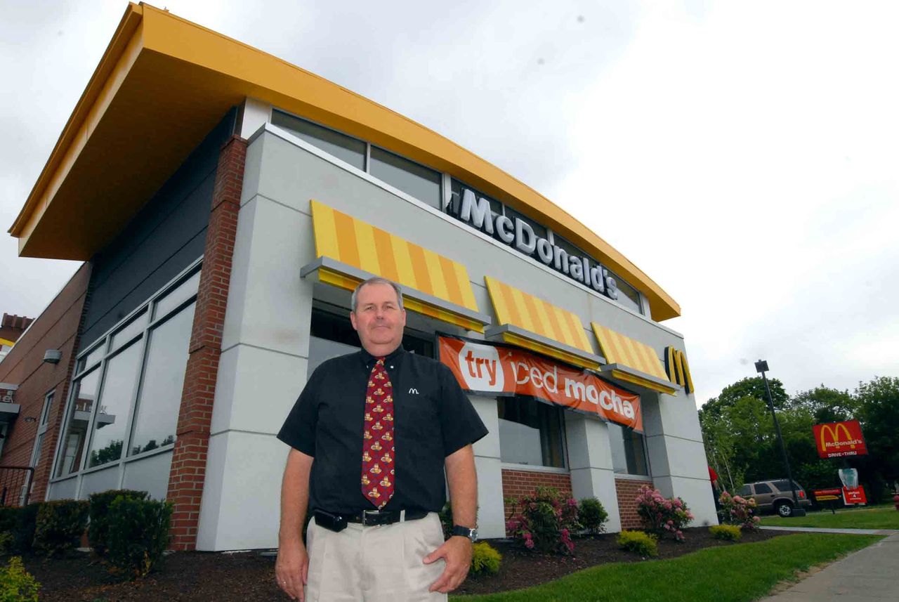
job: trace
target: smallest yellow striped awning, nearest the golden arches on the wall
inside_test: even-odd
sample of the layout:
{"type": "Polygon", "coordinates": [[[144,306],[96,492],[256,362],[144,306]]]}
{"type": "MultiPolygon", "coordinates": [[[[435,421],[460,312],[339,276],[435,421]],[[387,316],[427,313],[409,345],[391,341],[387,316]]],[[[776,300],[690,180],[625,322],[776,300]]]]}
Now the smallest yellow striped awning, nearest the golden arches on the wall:
{"type": "Polygon", "coordinates": [[[660,393],[677,392],[677,387],[672,386],[668,380],[662,368],[662,360],[655,355],[652,347],[601,324],[592,322],[591,326],[596,339],[600,341],[602,355],[609,362],[602,368],[603,372],[660,393]]]}

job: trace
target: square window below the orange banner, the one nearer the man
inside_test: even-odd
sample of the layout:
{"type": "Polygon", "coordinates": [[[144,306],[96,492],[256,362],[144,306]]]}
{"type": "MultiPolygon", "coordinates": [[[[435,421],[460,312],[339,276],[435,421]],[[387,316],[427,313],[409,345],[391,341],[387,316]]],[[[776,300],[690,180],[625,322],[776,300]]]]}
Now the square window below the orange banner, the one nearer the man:
{"type": "Polygon", "coordinates": [[[500,397],[497,404],[503,462],[565,468],[561,408],[530,397],[500,397]]]}

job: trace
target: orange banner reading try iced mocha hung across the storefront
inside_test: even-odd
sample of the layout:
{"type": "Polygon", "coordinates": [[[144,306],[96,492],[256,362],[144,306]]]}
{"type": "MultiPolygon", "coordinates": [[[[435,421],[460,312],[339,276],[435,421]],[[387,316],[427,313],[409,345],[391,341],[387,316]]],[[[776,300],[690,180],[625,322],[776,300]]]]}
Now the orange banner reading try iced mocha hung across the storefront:
{"type": "Polygon", "coordinates": [[[528,395],[643,432],[640,396],[529,351],[439,336],[441,362],[471,393],[528,395]]]}

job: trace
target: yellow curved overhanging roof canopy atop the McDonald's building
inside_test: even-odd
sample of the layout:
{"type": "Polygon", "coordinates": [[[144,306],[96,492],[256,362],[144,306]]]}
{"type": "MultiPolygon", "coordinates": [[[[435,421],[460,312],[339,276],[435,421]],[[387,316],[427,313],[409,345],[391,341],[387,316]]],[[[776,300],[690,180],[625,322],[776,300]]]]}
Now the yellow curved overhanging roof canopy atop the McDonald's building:
{"type": "Polygon", "coordinates": [[[359,94],[147,4],[129,4],[10,228],[20,254],[90,259],[247,96],[466,181],[618,272],[648,297],[655,320],[680,315],[609,243],[493,164],[359,94]]]}

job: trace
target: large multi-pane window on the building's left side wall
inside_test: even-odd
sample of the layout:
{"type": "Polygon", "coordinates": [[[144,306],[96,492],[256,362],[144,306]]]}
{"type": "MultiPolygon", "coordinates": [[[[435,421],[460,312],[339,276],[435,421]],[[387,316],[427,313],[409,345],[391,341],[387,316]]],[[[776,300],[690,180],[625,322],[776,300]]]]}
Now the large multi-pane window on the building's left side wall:
{"type": "Polygon", "coordinates": [[[175,279],[78,358],[56,477],[172,446],[199,270],[175,279]]]}

